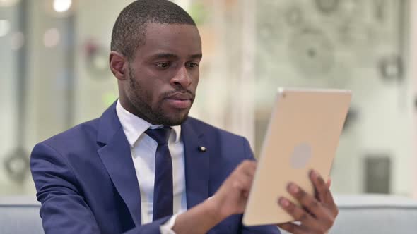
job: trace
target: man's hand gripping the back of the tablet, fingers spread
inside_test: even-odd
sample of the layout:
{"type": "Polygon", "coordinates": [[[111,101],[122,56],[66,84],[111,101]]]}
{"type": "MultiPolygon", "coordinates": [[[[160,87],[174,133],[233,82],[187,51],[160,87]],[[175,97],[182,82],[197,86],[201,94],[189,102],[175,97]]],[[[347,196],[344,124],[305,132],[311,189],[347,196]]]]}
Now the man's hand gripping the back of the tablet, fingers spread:
{"type": "Polygon", "coordinates": [[[310,172],[310,180],[315,186],[315,197],[308,195],[294,183],[290,183],[287,188],[303,208],[293,204],[285,197],[279,198],[278,203],[281,207],[295,220],[300,221],[300,225],[295,223],[279,224],[278,226],[283,230],[294,234],[326,233],[333,226],[339,209],[337,209],[329,190],[330,181],[324,183],[322,176],[319,176],[315,171],[310,172]]]}

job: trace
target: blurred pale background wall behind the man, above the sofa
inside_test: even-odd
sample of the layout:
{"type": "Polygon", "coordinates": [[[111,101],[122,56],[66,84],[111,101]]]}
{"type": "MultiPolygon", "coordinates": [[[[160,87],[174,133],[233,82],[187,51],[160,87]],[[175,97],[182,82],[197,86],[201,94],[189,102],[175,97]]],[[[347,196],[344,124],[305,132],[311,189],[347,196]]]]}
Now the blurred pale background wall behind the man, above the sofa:
{"type": "MultiPolygon", "coordinates": [[[[110,36],[127,0],[0,0],[0,196],[35,195],[33,146],[117,99],[110,36]]],[[[204,59],[191,115],[259,155],[278,86],[353,90],[339,194],[417,197],[417,1],[177,0],[204,59]]]]}

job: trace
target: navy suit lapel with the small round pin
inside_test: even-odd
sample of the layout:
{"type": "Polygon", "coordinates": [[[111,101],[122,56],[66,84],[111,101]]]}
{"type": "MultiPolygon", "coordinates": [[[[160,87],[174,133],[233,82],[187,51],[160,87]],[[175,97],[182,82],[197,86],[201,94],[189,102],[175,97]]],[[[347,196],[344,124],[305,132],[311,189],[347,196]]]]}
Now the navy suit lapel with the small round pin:
{"type": "Polygon", "coordinates": [[[203,202],[209,197],[209,153],[199,151],[207,145],[204,135],[196,132],[190,121],[181,126],[185,157],[185,188],[187,191],[187,208],[203,202]]]}

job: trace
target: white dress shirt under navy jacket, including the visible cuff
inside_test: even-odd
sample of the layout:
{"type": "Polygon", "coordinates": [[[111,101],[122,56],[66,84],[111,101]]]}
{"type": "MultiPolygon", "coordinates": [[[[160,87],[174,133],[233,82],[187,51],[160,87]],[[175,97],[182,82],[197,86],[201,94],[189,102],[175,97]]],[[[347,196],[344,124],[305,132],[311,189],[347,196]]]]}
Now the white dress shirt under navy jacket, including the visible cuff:
{"type": "MultiPolygon", "coordinates": [[[[153,183],[155,181],[155,154],[158,143],[146,135],[148,128],[161,128],[162,125],[151,125],[142,118],[130,113],[117,101],[117,116],[122,124],[124,134],[130,145],[131,156],[134,162],[136,177],[141,191],[141,216],[142,224],[151,223],[153,217],[153,183]]],[[[174,214],[180,214],[187,210],[187,197],[185,191],[184,171],[184,144],[181,140],[181,126],[172,126],[168,148],[172,157],[172,181],[174,214]]],[[[177,215],[160,227],[161,233],[173,233],[177,215]]]]}

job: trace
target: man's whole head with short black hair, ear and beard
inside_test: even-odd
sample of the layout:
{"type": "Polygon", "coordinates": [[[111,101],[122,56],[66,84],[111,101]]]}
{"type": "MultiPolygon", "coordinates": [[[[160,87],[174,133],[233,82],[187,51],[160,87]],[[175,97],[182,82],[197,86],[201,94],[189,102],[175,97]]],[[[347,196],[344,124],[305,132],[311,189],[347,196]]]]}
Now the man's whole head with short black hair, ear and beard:
{"type": "Polygon", "coordinates": [[[134,1],[114,24],[111,49],[125,109],[153,124],[179,125],[187,118],[202,56],[187,12],[166,0],[134,1]]]}

